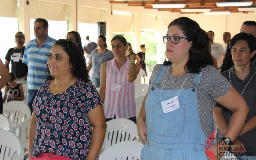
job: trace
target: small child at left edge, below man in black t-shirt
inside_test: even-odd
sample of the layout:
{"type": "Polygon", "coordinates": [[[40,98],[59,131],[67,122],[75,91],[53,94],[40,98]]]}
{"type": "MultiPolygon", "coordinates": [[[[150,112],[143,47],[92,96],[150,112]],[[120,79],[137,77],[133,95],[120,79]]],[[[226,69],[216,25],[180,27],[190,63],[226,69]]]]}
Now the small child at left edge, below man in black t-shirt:
{"type": "Polygon", "coordinates": [[[23,86],[16,82],[16,76],[14,73],[9,73],[11,79],[8,81],[8,85],[5,86],[5,92],[3,97],[3,102],[7,99],[7,102],[10,101],[22,101],[25,99],[23,86]]]}

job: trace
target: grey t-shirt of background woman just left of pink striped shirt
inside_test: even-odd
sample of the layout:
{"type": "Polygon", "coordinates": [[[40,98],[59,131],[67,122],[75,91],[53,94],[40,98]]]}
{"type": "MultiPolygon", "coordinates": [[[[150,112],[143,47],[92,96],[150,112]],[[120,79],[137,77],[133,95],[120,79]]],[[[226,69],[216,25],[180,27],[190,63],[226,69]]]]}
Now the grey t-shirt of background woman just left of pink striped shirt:
{"type": "Polygon", "coordinates": [[[113,52],[108,49],[104,53],[97,53],[96,50],[93,50],[90,53],[90,58],[92,60],[92,69],[93,69],[92,77],[100,78],[101,64],[103,64],[103,62],[111,60],[113,57],[114,57],[113,52]]]}

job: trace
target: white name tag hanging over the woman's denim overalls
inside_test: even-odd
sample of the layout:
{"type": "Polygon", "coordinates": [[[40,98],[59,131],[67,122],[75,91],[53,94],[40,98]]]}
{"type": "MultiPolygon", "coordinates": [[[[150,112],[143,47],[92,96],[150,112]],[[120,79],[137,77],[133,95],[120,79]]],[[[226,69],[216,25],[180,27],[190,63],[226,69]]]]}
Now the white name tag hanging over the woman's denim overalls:
{"type": "Polygon", "coordinates": [[[161,102],[161,104],[162,104],[164,113],[172,112],[179,108],[178,96],[175,96],[169,100],[163,101],[161,102]]]}

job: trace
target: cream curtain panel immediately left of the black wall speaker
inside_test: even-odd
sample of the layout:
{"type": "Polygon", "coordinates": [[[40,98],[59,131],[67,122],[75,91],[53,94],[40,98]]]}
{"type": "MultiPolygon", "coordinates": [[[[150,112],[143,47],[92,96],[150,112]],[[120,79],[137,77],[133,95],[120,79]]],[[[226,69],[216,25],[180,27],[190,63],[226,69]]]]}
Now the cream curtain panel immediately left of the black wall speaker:
{"type": "Polygon", "coordinates": [[[102,22],[104,10],[78,7],[78,23],[94,23],[102,22]]]}

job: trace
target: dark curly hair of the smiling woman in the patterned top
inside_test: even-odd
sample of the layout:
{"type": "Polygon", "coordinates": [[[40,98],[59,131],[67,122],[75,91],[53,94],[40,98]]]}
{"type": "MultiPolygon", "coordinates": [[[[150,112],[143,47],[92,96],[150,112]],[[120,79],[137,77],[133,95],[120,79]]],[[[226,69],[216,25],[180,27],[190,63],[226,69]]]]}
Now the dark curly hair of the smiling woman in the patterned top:
{"type": "MultiPolygon", "coordinates": [[[[54,45],[61,46],[63,48],[63,51],[66,52],[69,56],[69,63],[72,64],[74,68],[73,75],[78,79],[82,79],[86,82],[91,83],[91,80],[89,79],[89,72],[86,68],[84,57],[80,53],[81,50],[79,49],[79,47],[76,46],[72,41],[65,39],[59,39],[54,43],[54,45]]],[[[51,76],[48,65],[45,73],[47,76],[46,82],[54,79],[54,77],[51,76]]]]}

